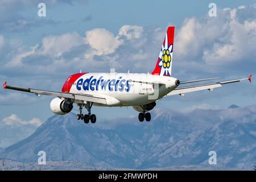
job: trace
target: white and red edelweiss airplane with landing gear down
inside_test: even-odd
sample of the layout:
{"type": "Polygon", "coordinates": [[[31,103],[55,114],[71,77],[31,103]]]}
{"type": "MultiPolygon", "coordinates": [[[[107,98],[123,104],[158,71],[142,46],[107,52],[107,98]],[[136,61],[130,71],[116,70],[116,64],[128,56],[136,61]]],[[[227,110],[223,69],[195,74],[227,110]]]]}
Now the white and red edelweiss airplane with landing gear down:
{"type": "Polygon", "coordinates": [[[150,110],[154,109],[156,102],[163,97],[199,90],[210,90],[225,84],[249,80],[238,78],[236,80],[211,82],[209,84],[197,84],[192,86],[180,86],[195,82],[215,80],[206,78],[201,80],[179,81],[172,77],[172,54],[174,51],[175,27],[168,27],[162,49],[156,61],[155,69],[151,73],[75,73],[64,82],[61,92],[52,92],[32,88],[22,88],[3,84],[3,88],[22,92],[35,93],[37,96],[56,96],[51,101],[50,107],[55,114],[67,114],[73,109],[73,105],[79,107],[77,119],[84,123],[95,123],[96,115],[91,114],[92,106],[123,107],[132,106],[139,112],[140,122],[151,120],[150,110]],[[85,107],[88,114],[82,114],[85,107]]]}

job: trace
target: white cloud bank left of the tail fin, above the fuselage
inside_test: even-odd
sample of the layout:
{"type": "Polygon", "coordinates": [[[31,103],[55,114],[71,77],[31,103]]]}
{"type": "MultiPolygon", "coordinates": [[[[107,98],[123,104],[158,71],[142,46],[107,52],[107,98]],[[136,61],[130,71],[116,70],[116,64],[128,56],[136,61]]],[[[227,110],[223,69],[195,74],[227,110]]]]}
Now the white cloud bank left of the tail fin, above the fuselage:
{"type": "MultiPolygon", "coordinates": [[[[104,28],[96,28],[85,32],[85,36],[80,36],[77,32],[46,36],[41,43],[32,47],[24,46],[18,39],[3,38],[5,46],[0,49],[1,75],[51,77],[54,74],[56,78],[56,73],[60,76],[66,75],[65,73],[68,75],[80,69],[108,72],[109,68],[116,68],[118,71],[125,68],[127,71],[127,65],[130,65],[127,59],[131,59],[131,63],[136,63],[134,67],[136,71],[145,67],[143,58],[148,59],[152,53],[150,51],[152,47],[143,45],[148,44],[151,38],[155,37],[150,36],[150,39],[147,39],[147,36],[142,37],[142,30],[143,28],[139,26],[122,26],[118,34],[114,35],[104,28]],[[108,66],[102,67],[102,65],[108,66]]],[[[157,35],[157,32],[154,31],[154,35],[157,35]]],[[[154,57],[157,55],[158,53],[154,53],[154,57]]],[[[147,64],[149,65],[150,62],[147,61],[147,64]]],[[[24,85],[22,80],[19,84],[24,85]]],[[[37,88],[38,85],[34,87],[37,88]]],[[[1,100],[6,99],[0,96],[1,100]]]]}

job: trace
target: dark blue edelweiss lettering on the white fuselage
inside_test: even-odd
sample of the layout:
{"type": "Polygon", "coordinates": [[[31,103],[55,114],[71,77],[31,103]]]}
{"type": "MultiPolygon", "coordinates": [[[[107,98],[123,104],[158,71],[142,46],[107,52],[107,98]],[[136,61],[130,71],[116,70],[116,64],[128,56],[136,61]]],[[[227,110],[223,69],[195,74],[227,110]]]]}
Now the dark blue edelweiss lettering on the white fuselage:
{"type": "Polygon", "coordinates": [[[129,92],[130,90],[129,80],[122,79],[122,76],[118,79],[105,80],[103,76],[100,78],[86,78],[85,80],[81,78],[77,81],[76,89],[77,90],[106,90],[109,91],[119,91],[119,92],[129,92]]]}

